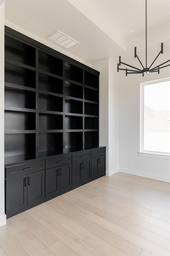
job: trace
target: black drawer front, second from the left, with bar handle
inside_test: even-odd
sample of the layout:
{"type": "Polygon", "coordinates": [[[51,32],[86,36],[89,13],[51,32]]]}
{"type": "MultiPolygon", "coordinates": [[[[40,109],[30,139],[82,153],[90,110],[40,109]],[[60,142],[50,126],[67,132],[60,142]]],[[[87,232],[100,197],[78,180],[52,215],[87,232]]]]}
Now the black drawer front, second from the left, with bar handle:
{"type": "Polygon", "coordinates": [[[46,160],[46,169],[57,167],[72,162],[71,155],[56,157],[53,159],[46,160]]]}

